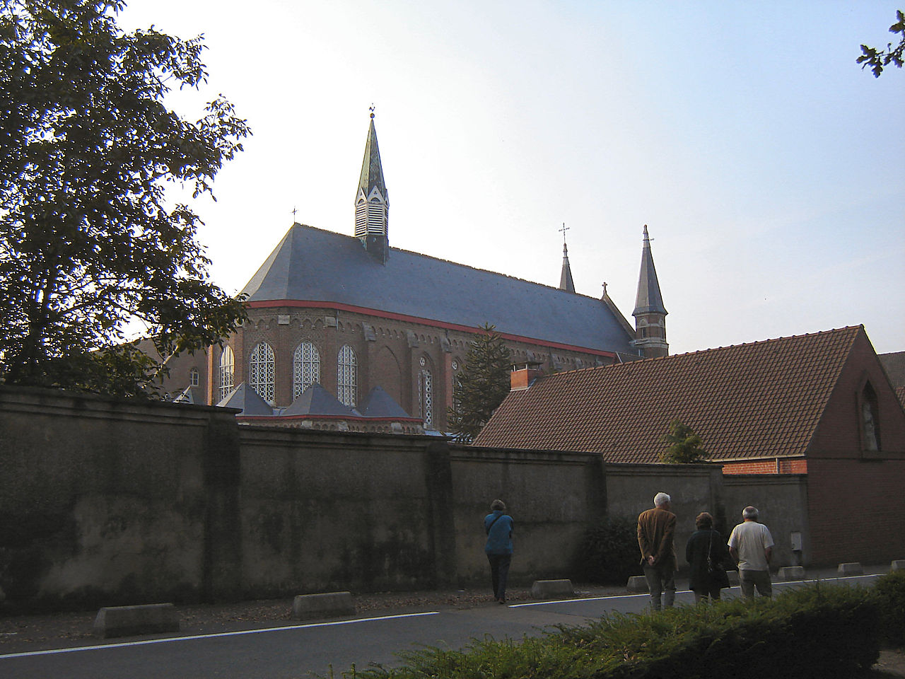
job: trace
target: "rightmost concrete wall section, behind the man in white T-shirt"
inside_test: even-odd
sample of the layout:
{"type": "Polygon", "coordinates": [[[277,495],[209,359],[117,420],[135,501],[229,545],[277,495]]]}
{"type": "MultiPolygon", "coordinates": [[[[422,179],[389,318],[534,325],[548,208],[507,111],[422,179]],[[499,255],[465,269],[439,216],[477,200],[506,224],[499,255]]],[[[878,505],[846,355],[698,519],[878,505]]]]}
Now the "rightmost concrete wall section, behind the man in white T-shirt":
{"type": "MultiPolygon", "coordinates": [[[[727,474],[723,477],[726,498],[727,530],[741,523],[741,511],[757,507],[758,521],[765,524],[776,543],[771,566],[809,566],[813,563],[807,513],[807,476],[805,474],[727,474]],[[803,539],[801,553],[792,550],[792,534],[803,539]]],[[[854,559],[860,560],[860,559],[854,559]]]]}

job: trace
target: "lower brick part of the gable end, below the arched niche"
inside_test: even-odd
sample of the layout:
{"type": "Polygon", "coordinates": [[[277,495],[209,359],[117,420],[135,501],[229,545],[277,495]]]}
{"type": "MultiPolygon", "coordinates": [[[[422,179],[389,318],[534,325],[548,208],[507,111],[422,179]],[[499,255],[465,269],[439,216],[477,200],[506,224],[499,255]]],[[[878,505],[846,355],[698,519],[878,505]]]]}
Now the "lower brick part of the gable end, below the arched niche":
{"type": "Polygon", "coordinates": [[[905,460],[810,460],[815,564],[905,559],[905,460]],[[865,557],[864,555],[870,555],[865,557]]]}

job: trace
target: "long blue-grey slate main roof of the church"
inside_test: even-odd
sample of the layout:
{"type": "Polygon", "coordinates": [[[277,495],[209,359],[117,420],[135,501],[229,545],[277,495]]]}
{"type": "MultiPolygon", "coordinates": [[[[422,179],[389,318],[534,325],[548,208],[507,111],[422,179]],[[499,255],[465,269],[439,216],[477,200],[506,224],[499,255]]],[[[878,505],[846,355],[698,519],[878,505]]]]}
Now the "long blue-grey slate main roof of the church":
{"type": "Polygon", "coordinates": [[[466,328],[490,322],[503,334],[638,355],[624,320],[599,299],[398,248],[381,264],[357,238],[306,225],[292,225],[243,292],[252,304],[323,301],[466,328]]]}

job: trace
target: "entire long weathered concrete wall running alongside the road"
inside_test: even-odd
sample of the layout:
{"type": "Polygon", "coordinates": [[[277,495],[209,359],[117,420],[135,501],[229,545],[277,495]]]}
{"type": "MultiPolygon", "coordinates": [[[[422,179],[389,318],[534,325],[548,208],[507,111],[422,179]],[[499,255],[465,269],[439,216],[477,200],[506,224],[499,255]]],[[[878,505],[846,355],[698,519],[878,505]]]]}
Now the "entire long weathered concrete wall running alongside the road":
{"type": "MultiPolygon", "coordinates": [[[[679,515],[680,566],[704,510],[730,528],[755,504],[777,543],[805,525],[804,477],[729,480],[707,464],[237,425],[233,412],[0,386],[7,605],[483,583],[481,521],[496,498],[515,519],[511,578],[524,584],[573,578],[586,528],[636,516],[659,491],[679,515]]],[[[795,562],[777,551],[776,565],[795,562]]]]}

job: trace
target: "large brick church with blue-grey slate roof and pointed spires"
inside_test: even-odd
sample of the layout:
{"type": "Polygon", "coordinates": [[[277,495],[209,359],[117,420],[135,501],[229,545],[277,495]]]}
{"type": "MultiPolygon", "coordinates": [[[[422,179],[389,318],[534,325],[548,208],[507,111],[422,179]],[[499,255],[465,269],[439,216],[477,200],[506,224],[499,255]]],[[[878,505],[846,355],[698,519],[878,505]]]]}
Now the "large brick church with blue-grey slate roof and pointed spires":
{"type": "Polygon", "coordinates": [[[176,361],[172,376],[187,376],[191,400],[227,405],[244,384],[281,416],[319,385],[357,412],[381,387],[425,430],[443,432],[456,375],[485,323],[513,364],[547,374],[668,353],[646,226],[633,328],[606,292],[575,291],[565,244],[558,287],[392,247],[373,113],[353,214],[353,235],[291,225],[242,291],[243,327],[207,352],[206,366],[187,365],[200,355],[176,361]]]}

